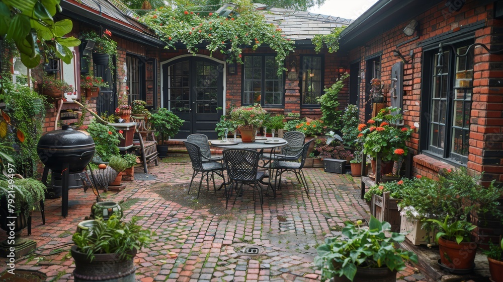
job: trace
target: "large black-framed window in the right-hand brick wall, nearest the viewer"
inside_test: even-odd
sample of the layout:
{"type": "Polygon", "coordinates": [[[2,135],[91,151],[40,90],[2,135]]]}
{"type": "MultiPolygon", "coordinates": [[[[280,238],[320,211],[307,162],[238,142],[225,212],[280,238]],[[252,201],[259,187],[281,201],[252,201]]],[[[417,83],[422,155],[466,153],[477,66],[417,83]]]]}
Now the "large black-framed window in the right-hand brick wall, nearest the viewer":
{"type": "Polygon", "coordinates": [[[430,55],[430,105],[423,113],[429,122],[426,149],[460,164],[467,163],[470,135],[473,49],[467,53],[468,45],[448,45],[430,55]]]}

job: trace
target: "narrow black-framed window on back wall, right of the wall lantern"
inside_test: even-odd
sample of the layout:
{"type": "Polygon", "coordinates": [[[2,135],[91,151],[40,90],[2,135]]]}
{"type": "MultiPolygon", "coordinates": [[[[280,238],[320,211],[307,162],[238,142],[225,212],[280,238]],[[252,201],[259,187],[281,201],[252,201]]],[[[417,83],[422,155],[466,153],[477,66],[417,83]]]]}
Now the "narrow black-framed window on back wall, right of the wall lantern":
{"type": "Polygon", "coordinates": [[[321,56],[301,56],[301,61],[302,105],[319,107],[318,97],[323,95],[323,59],[321,56]]]}

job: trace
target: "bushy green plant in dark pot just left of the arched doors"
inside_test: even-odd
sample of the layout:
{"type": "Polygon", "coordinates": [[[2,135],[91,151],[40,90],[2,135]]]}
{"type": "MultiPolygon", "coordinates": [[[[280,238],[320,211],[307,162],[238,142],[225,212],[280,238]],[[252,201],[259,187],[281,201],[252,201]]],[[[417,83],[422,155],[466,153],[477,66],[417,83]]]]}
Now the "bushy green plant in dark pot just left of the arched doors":
{"type": "Polygon", "coordinates": [[[164,158],[167,155],[168,147],[167,144],[164,144],[164,140],[175,136],[184,124],[184,120],[166,108],[160,108],[157,112],[153,112],[150,115],[149,121],[157,134],[157,152],[159,153],[159,157],[164,158]]]}

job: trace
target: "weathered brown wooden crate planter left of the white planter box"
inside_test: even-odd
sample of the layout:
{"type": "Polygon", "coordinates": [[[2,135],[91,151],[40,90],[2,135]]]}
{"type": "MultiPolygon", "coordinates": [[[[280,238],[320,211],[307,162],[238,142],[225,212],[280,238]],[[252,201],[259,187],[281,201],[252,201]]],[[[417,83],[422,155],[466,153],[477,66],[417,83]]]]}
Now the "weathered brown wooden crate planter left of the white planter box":
{"type": "Polygon", "coordinates": [[[400,232],[400,212],[398,210],[398,201],[389,197],[389,192],[384,192],[382,196],[372,195],[371,213],[380,220],[391,224],[391,231],[400,232]]]}

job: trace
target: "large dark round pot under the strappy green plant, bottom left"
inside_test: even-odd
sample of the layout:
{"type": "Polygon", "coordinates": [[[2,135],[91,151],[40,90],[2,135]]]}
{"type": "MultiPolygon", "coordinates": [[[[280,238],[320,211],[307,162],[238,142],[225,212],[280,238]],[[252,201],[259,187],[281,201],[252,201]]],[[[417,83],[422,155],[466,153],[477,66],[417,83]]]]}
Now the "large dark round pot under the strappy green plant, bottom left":
{"type": "Polygon", "coordinates": [[[95,254],[91,261],[86,253],[77,250],[77,246],[71,247],[71,256],[75,261],[75,270],[73,277],[75,282],[82,281],[121,281],[135,282],[136,266],[133,257],[136,250],[129,251],[130,259],[119,259],[118,255],[113,254],[95,254]],[[116,279],[116,280],[113,280],[116,279]]]}

